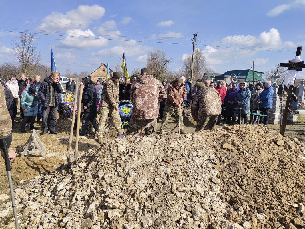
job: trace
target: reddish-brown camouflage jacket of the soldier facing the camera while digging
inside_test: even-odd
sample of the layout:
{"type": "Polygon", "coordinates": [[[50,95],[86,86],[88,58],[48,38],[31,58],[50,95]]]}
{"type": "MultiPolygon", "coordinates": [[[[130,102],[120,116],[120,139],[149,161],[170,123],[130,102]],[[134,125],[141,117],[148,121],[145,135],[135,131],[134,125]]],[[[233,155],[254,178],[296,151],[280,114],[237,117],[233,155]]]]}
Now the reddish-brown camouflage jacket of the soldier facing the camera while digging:
{"type": "Polygon", "coordinates": [[[177,89],[175,86],[175,81],[173,80],[167,87],[167,98],[165,106],[179,108],[180,99],[184,99],[187,95],[185,86],[181,86],[177,89]]]}

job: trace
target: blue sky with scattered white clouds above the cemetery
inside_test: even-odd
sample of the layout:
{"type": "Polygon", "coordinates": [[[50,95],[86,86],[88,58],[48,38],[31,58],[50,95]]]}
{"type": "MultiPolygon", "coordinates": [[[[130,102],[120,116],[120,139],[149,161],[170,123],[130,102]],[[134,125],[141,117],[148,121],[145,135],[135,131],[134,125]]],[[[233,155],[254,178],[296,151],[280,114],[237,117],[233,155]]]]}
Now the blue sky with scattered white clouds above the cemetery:
{"type": "Polygon", "coordinates": [[[0,10],[0,64],[13,62],[11,42],[27,30],[35,35],[43,64],[51,65],[52,46],[62,75],[66,68],[91,73],[107,61],[113,68],[123,50],[130,73],[145,67],[154,49],[173,58],[169,68],[178,71],[192,54],[196,32],[196,48],[217,73],[249,69],[252,60],[256,71],[266,72],[288,63],[305,44],[305,0],[1,0],[0,10]]]}

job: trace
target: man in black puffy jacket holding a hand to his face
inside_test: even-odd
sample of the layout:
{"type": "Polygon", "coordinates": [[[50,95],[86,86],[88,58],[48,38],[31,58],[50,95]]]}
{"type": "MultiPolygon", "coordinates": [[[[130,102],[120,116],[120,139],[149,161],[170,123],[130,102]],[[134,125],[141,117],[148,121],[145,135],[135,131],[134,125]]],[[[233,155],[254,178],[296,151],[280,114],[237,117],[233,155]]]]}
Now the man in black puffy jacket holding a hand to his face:
{"type": "Polygon", "coordinates": [[[50,133],[58,134],[55,131],[57,122],[57,110],[60,104],[60,94],[63,88],[59,83],[60,73],[52,71],[50,77],[46,77],[44,82],[41,83],[39,89],[39,96],[41,97],[42,104],[42,133],[46,134],[48,131],[47,120],[49,112],[51,112],[51,125],[50,133]]]}

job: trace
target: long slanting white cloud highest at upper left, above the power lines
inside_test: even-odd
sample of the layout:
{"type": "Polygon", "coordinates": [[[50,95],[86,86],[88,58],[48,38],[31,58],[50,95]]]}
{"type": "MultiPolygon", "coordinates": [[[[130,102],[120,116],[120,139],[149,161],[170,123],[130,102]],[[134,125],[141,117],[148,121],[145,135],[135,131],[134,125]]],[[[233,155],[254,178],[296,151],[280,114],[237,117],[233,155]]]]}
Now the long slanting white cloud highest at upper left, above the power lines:
{"type": "Polygon", "coordinates": [[[68,11],[65,15],[59,12],[52,12],[46,16],[38,29],[40,30],[66,30],[83,25],[84,27],[92,20],[100,19],[105,13],[105,9],[99,5],[79,5],[77,9],[68,11]]]}

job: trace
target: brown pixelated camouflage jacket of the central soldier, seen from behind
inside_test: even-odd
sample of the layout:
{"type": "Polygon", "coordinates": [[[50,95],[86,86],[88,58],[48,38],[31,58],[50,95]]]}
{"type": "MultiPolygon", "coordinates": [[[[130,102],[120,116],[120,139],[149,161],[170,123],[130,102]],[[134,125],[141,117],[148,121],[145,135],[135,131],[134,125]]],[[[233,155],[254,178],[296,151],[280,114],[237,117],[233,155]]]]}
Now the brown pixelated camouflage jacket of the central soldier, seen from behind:
{"type": "Polygon", "coordinates": [[[159,106],[166,99],[164,86],[153,75],[143,74],[130,86],[130,100],[133,104],[131,117],[137,120],[155,119],[159,106]]]}

